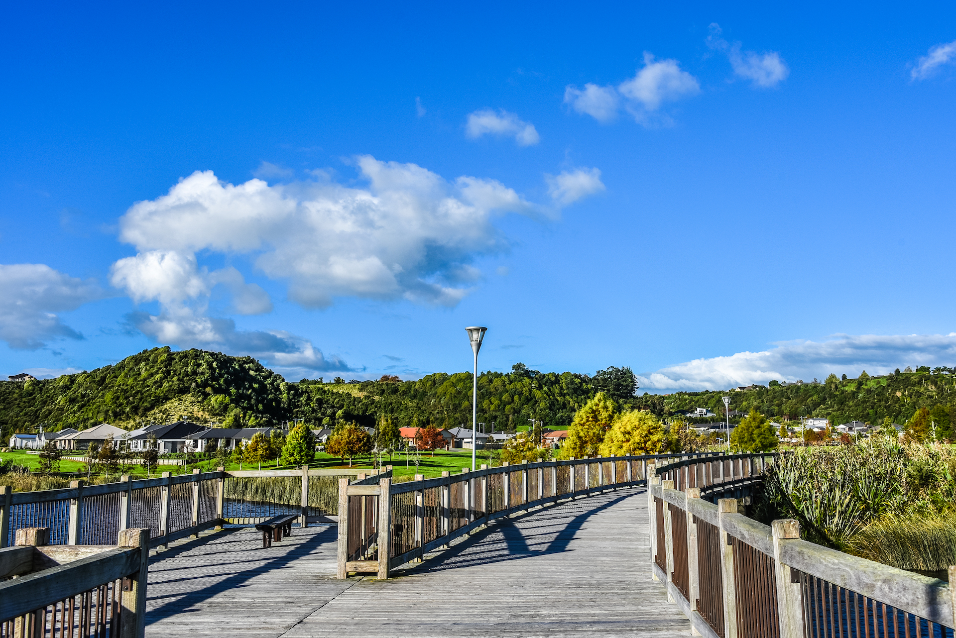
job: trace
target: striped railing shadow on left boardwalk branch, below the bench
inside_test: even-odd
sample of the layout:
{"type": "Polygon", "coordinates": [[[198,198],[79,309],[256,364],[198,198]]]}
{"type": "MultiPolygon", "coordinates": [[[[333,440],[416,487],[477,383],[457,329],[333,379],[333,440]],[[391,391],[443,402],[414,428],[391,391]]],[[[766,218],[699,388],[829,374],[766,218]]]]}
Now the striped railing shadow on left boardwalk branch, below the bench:
{"type": "MultiPolygon", "coordinates": [[[[238,528],[227,529],[223,533],[210,535],[209,537],[206,537],[206,538],[209,539],[210,541],[223,540],[224,537],[228,537],[232,534],[236,534],[241,531],[243,530],[238,528]]],[[[147,611],[146,625],[151,625],[153,623],[157,623],[170,616],[174,616],[178,613],[183,613],[186,610],[188,610],[189,607],[202,603],[206,599],[211,598],[215,596],[216,594],[222,593],[228,589],[235,589],[238,587],[247,586],[246,585],[247,581],[252,580],[256,575],[261,574],[262,572],[270,571],[272,569],[282,568],[287,564],[293,563],[293,561],[295,561],[296,559],[309,554],[312,550],[314,550],[319,545],[336,542],[337,534],[338,532],[335,526],[326,527],[324,530],[316,534],[313,534],[312,536],[304,539],[302,542],[296,542],[295,544],[290,545],[287,551],[280,556],[275,556],[272,559],[262,562],[254,567],[242,568],[242,571],[232,573],[231,576],[228,576],[221,581],[217,581],[216,583],[207,585],[200,589],[187,591],[182,594],[177,593],[177,594],[159,595],[159,596],[149,596],[147,593],[147,600],[156,601],[163,598],[171,598],[171,597],[175,597],[175,600],[170,600],[167,603],[163,603],[163,605],[157,606],[147,611]]],[[[258,537],[255,538],[255,541],[258,541],[258,537]]],[[[159,563],[164,558],[174,558],[176,554],[183,553],[185,551],[195,551],[198,548],[198,546],[195,543],[187,543],[187,544],[188,546],[183,546],[180,552],[175,552],[176,549],[180,549],[179,547],[177,547],[173,550],[167,550],[166,552],[163,552],[163,554],[160,554],[159,556],[155,557],[153,560],[159,563]],[[175,553],[170,553],[170,551],[173,551],[175,553]]],[[[207,544],[207,542],[203,544],[207,544]]],[[[273,545],[272,549],[274,550],[275,548],[276,546],[273,545]]],[[[250,551],[254,552],[256,550],[253,549],[250,551]]],[[[249,557],[243,557],[243,558],[246,560],[237,561],[234,564],[239,565],[239,564],[250,563],[254,561],[254,559],[249,559],[249,557]]],[[[210,576],[214,576],[214,575],[205,573],[201,576],[201,578],[209,578],[210,576]]],[[[176,579],[173,581],[163,581],[163,585],[167,583],[173,583],[173,582],[183,581],[183,580],[188,580],[188,578],[176,579]]]]}

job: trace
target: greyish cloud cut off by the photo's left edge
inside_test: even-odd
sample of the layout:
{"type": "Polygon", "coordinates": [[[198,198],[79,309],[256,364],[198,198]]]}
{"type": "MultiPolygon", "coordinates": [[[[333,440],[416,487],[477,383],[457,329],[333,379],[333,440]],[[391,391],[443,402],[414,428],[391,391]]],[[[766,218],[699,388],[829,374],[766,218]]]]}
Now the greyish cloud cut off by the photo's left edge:
{"type": "Polygon", "coordinates": [[[83,281],[43,264],[0,265],[0,340],[16,350],[38,350],[46,340],[82,339],[54,314],[102,297],[83,281]]]}

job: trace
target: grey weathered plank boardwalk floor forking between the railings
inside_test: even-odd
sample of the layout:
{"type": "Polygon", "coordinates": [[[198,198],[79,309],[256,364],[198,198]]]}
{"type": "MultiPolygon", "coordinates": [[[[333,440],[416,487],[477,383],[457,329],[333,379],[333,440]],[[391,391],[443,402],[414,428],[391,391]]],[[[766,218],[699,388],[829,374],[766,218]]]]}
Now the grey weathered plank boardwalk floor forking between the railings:
{"type": "Polygon", "coordinates": [[[619,490],[533,510],[388,582],[339,581],[336,527],[261,548],[232,529],[152,559],[146,633],[309,636],[689,636],[650,577],[647,495],[619,490]]]}

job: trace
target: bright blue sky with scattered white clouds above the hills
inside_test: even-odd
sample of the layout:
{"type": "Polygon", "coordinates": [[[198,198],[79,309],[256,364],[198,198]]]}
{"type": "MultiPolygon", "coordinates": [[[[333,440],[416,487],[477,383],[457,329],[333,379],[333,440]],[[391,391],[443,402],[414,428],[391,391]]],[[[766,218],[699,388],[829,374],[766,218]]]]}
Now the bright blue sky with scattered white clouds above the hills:
{"type": "Polygon", "coordinates": [[[956,10],[8,5],[4,373],[956,365],[956,10]]]}

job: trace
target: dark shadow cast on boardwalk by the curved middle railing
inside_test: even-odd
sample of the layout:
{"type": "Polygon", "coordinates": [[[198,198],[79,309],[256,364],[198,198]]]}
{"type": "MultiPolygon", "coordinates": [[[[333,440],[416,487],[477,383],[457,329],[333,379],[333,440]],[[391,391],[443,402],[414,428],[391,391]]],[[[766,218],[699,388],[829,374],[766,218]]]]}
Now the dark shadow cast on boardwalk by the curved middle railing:
{"type": "Polygon", "coordinates": [[[403,573],[438,572],[569,551],[569,543],[575,539],[577,532],[588,519],[623,500],[644,493],[643,487],[632,488],[626,493],[616,491],[586,499],[568,500],[510,519],[497,519],[485,529],[442,550],[438,556],[434,556],[423,564],[404,567],[398,571],[403,573]],[[599,502],[597,506],[591,506],[601,497],[607,500],[599,502]],[[584,511],[575,514],[581,509],[584,511]],[[532,518],[537,524],[521,524],[532,518]],[[545,531],[548,529],[554,531],[545,531]]]}

